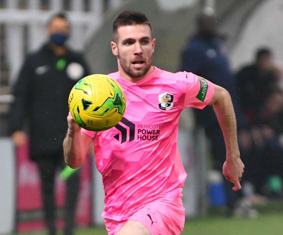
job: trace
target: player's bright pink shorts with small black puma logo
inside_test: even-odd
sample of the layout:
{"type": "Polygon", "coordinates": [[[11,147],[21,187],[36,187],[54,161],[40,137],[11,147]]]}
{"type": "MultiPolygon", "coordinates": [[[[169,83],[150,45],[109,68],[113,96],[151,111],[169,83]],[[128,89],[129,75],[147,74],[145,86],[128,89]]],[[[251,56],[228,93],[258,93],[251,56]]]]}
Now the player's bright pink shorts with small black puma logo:
{"type": "MultiPolygon", "coordinates": [[[[168,200],[156,200],[145,205],[128,220],[139,221],[151,235],[179,235],[184,229],[185,208],[168,200]]],[[[108,235],[115,235],[128,220],[105,218],[108,235]]]]}

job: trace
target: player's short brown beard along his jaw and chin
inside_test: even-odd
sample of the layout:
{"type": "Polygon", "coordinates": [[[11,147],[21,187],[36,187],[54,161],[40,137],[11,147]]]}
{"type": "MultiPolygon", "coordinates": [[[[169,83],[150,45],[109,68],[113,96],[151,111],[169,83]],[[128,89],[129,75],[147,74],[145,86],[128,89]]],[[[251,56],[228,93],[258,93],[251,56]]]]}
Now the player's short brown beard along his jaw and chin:
{"type": "Polygon", "coordinates": [[[152,56],[149,57],[148,63],[146,63],[146,62],[143,60],[142,57],[137,57],[136,60],[143,60],[143,61],[144,61],[143,63],[144,63],[146,66],[144,66],[143,68],[137,68],[137,69],[133,70],[133,69],[131,68],[131,64],[130,64],[129,66],[127,65],[127,60],[126,60],[126,58],[120,57],[119,52],[118,52],[118,56],[117,56],[117,57],[119,58],[119,63],[120,63],[121,68],[122,68],[122,69],[124,70],[124,72],[125,72],[126,74],[128,74],[130,77],[142,77],[142,76],[144,76],[144,75],[149,71],[149,69],[150,69],[150,67],[151,67],[151,65],[152,65],[152,56]]]}

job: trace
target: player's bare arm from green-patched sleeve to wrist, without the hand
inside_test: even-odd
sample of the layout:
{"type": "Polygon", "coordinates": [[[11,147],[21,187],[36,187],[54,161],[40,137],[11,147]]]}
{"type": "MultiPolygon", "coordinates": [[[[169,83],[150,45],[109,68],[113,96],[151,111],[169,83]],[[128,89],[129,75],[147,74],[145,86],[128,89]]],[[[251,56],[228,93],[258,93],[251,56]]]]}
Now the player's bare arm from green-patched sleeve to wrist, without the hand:
{"type": "Polygon", "coordinates": [[[213,108],[223,132],[227,158],[239,157],[236,117],[228,91],[225,89],[220,91],[219,98],[213,104],[213,108]]]}

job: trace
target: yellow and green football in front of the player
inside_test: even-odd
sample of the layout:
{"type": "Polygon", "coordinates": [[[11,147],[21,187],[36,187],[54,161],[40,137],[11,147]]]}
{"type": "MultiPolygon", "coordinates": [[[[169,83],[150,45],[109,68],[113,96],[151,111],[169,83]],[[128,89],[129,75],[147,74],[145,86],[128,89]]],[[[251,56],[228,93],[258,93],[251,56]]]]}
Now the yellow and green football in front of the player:
{"type": "Polygon", "coordinates": [[[74,85],[68,105],[73,119],[81,127],[104,131],[121,121],[126,97],[122,87],[111,77],[92,74],[74,85]]]}

